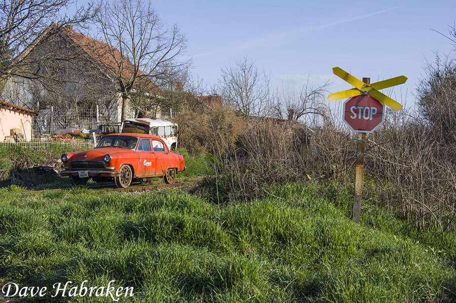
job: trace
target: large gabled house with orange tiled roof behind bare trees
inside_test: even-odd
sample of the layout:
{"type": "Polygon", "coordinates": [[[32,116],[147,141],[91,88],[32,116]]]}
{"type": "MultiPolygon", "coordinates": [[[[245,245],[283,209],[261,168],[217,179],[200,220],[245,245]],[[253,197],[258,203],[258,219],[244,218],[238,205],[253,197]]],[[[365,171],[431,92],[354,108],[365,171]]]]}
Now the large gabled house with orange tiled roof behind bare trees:
{"type": "MultiPolygon", "coordinates": [[[[116,48],[72,27],[52,23],[16,60],[34,62],[29,72],[39,77],[9,79],[2,97],[43,111],[41,120],[48,119],[46,112],[51,112],[53,106],[52,129],[92,128],[94,124],[121,122],[120,86],[132,77],[137,67],[116,48]]],[[[142,74],[140,70],[136,72],[142,74]]],[[[139,103],[159,97],[160,89],[144,76],[136,81],[131,95],[135,94],[140,96],[135,104],[127,104],[126,118],[136,118],[139,103]]],[[[50,128],[42,126],[42,129],[50,128]]]]}

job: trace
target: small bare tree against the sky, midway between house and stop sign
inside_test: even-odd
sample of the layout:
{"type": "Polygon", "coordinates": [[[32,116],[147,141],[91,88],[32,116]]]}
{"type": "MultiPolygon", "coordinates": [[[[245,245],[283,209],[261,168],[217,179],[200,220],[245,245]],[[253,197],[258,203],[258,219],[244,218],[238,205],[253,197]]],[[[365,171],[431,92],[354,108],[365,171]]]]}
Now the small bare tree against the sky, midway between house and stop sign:
{"type": "Polygon", "coordinates": [[[227,104],[243,116],[267,115],[270,109],[270,78],[259,72],[254,60],[236,60],[221,69],[220,86],[227,104]]]}

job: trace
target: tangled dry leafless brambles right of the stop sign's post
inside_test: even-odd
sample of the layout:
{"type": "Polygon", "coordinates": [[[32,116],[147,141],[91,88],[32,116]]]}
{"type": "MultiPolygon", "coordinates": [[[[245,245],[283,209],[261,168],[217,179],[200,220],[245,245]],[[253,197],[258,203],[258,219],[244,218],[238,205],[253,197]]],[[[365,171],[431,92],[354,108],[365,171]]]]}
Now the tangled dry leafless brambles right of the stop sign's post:
{"type": "Polygon", "coordinates": [[[456,214],[456,146],[422,119],[390,119],[368,137],[368,173],[386,184],[383,201],[418,228],[435,225],[442,235],[456,214]]]}

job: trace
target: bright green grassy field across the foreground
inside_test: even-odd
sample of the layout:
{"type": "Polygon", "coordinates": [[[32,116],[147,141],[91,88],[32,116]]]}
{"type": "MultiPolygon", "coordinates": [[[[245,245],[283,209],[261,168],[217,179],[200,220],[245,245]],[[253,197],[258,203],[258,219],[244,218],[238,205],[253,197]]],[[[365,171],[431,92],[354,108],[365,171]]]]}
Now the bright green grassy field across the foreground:
{"type": "MultiPolygon", "coordinates": [[[[381,209],[357,226],[347,217],[347,188],[295,184],[268,193],[218,208],[180,191],[30,196],[4,188],[2,279],[49,288],[116,280],[134,287],[121,299],[133,302],[456,300],[454,235],[417,236],[381,209]]],[[[31,300],[51,299],[112,301],[31,300]]]]}

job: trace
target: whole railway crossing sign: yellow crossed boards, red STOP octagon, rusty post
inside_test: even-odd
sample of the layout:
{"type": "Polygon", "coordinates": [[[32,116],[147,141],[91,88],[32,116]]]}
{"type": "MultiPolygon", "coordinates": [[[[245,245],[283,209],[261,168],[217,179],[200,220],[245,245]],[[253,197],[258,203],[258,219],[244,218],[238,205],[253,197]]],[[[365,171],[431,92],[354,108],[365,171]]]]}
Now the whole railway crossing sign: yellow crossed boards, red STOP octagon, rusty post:
{"type": "Polygon", "coordinates": [[[394,110],[402,109],[400,103],[382,94],[378,90],[403,84],[407,81],[407,78],[399,76],[370,84],[370,78],[363,78],[363,81],[360,81],[340,67],[334,67],[332,70],[335,75],[355,87],[349,90],[330,94],[328,96],[328,100],[336,101],[351,97],[344,103],[344,121],[352,131],[358,133],[352,219],[359,224],[361,217],[361,196],[363,189],[366,133],[373,132],[377,127],[384,123],[384,104],[390,106],[394,110]]]}

